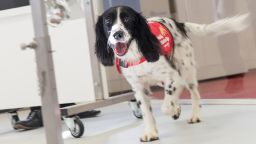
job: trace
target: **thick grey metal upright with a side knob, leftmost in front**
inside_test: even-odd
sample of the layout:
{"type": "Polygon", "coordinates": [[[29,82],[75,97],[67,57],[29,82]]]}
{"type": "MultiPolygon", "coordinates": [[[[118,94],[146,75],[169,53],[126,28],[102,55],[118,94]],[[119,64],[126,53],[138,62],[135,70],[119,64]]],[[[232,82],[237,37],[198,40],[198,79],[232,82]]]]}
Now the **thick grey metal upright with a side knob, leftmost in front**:
{"type": "Polygon", "coordinates": [[[63,144],[60,109],[48,35],[44,0],[30,0],[37,44],[36,63],[40,82],[43,122],[47,144],[63,144]]]}

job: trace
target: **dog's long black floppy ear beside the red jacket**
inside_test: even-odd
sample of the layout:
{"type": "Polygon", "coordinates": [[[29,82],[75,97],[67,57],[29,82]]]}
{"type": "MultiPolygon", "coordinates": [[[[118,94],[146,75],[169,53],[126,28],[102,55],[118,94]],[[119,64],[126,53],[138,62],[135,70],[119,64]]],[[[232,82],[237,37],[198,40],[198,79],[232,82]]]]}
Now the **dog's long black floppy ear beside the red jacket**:
{"type": "Polygon", "coordinates": [[[134,37],[139,49],[148,62],[155,62],[159,59],[160,43],[151,33],[146,19],[140,13],[137,13],[136,19],[134,37]]]}

